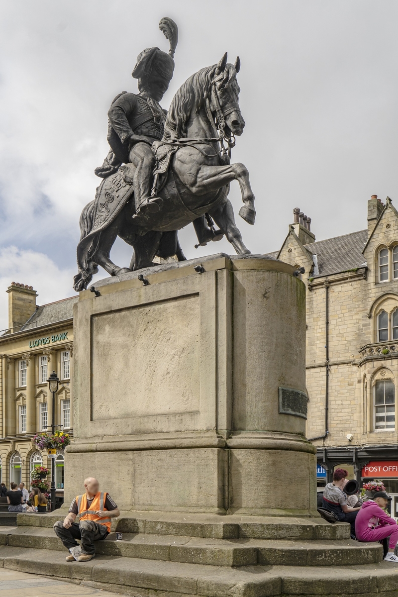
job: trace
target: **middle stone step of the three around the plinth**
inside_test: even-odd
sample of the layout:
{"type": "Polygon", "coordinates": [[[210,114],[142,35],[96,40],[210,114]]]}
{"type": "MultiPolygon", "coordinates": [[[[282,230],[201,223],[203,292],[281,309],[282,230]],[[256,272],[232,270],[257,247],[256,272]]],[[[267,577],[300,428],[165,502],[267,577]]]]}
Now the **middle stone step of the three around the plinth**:
{"type": "MultiPolygon", "coordinates": [[[[382,560],[379,543],[360,543],[351,539],[206,539],[132,533],[124,533],[122,541],[115,539],[116,534],[111,533],[106,540],[97,541],[95,553],[213,566],[344,566],[374,564],[382,560]]],[[[65,551],[53,529],[45,527],[18,527],[7,531],[7,540],[3,536],[1,543],[11,547],[65,551]]]]}

